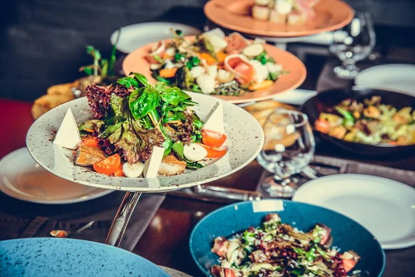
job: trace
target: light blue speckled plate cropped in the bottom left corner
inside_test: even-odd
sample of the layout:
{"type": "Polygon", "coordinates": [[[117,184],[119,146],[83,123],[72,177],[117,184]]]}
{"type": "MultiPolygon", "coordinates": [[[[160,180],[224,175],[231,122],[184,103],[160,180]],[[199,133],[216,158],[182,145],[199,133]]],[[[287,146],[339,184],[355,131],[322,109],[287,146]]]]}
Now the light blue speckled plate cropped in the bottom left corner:
{"type": "Polygon", "coordinates": [[[169,276],[134,253],[107,244],[64,238],[0,242],[0,276],[169,276]]]}

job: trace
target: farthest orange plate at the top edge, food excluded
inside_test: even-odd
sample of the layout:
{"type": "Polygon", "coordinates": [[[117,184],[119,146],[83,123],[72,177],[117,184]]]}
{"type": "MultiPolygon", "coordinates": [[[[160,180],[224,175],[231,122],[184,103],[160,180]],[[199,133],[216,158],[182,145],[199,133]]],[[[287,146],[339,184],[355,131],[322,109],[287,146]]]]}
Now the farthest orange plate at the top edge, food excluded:
{"type": "Polygon", "coordinates": [[[304,37],[338,30],[349,24],[354,15],[347,3],[321,0],[314,6],[315,21],[297,27],[254,19],[253,5],[254,0],[212,0],[205,5],[205,15],[224,28],[268,37],[304,37]]]}

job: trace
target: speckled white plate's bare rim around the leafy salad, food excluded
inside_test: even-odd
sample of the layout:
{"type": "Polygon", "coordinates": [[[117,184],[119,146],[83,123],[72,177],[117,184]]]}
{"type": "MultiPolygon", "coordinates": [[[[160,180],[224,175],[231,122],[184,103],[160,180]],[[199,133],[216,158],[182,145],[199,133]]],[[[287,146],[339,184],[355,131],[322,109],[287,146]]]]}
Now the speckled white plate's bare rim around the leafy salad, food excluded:
{"type": "MultiPolygon", "coordinates": [[[[176,176],[146,179],[109,177],[81,166],[74,166],[65,157],[62,147],[53,144],[53,131],[59,128],[62,122],[61,118],[64,118],[64,114],[69,107],[71,107],[75,118],[82,117],[83,120],[93,118],[86,98],[66,102],[38,118],[28,130],[26,145],[33,159],[58,177],[86,186],[141,193],[163,193],[221,179],[247,166],[257,157],[264,145],[264,132],[258,121],[248,111],[212,96],[201,93],[188,94],[194,101],[201,103],[199,105],[201,109],[198,113],[202,118],[208,114],[214,103],[219,101],[223,104],[223,118],[225,125],[228,126],[226,135],[231,145],[225,156],[199,170],[176,176]],[[212,105],[206,107],[205,105],[209,105],[209,103],[212,105]],[[55,122],[50,120],[55,120],[55,122]],[[57,160],[58,163],[55,163],[55,158],[59,159],[57,160]],[[56,167],[59,169],[55,170],[56,167]]],[[[81,119],[78,120],[77,123],[79,124],[81,119]]]]}

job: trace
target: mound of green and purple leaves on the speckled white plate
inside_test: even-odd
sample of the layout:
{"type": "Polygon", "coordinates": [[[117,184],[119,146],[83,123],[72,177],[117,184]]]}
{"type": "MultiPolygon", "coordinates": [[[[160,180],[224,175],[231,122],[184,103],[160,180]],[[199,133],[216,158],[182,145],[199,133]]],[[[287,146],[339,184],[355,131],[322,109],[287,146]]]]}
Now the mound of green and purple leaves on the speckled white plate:
{"type": "MultiPolygon", "coordinates": [[[[82,132],[98,132],[107,154],[120,153],[129,163],[149,159],[154,146],[165,156],[174,153],[185,161],[183,145],[201,142],[203,121],[190,109],[198,105],[177,87],[158,82],[151,86],[140,73],[118,79],[108,87],[88,87],[89,104],[95,121],[80,126],[82,132]],[[88,131],[86,131],[88,130],[88,131]]],[[[188,163],[200,168],[199,163],[188,163]]]]}

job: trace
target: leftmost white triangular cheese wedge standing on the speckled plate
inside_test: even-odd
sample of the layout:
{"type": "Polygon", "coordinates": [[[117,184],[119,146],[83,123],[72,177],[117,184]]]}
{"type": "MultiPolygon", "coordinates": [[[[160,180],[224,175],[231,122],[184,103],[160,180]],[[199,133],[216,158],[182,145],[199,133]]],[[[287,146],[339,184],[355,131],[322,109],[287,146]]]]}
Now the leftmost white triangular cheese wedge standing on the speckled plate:
{"type": "Polygon", "coordinates": [[[77,149],[78,143],[81,141],[80,131],[76,125],[71,108],[66,111],[64,120],[57,130],[53,143],[64,148],[77,149]]]}

